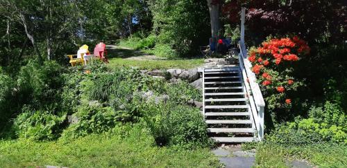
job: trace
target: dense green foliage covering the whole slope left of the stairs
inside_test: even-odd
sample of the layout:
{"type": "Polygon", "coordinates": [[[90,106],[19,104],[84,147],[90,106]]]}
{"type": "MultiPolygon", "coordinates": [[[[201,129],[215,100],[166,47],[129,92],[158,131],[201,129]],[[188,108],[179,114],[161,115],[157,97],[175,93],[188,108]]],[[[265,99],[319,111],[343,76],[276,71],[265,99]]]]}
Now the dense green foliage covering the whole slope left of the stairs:
{"type": "Polygon", "coordinates": [[[6,116],[2,137],[70,140],[141,123],[159,146],[211,144],[201,113],[187,103],[201,100],[201,94],[187,82],[169,83],[137,68],[110,69],[100,62],[84,68],[91,72],[83,67],[67,70],[51,61],[43,66],[29,62],[15,81],[1,73],[1,108],[12,109],[1,111],[6,116]],[[22,104],[13,110],[9,101],[22,104]]]}

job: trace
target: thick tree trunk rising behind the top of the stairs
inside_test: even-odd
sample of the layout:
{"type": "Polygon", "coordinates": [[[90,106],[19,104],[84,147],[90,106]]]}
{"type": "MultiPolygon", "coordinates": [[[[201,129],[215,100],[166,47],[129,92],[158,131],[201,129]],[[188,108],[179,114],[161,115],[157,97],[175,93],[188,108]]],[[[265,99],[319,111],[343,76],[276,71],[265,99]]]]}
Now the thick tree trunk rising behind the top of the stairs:
{"type": "Polygon", "coordinates": [[[212,3],[212,0],[208,1],[208,10],[210,11],[210,21],[211,21],[211,37],[212,37],[212,48],[216,48],[217,39],[219,38],[219,30],[221,29],[219,23],[219,3],[212,3]]]}

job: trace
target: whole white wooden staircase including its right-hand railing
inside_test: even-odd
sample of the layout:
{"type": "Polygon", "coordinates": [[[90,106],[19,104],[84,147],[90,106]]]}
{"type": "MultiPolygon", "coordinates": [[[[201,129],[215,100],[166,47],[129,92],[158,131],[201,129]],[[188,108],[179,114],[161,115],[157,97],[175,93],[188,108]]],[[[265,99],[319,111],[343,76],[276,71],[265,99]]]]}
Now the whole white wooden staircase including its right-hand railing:
{"type": "Polygon", "coordinates": [[[264,100],[240,45],[239,65],[202,68],[203,115],[217,142],[260,141],[264,135],[264,100]]]}

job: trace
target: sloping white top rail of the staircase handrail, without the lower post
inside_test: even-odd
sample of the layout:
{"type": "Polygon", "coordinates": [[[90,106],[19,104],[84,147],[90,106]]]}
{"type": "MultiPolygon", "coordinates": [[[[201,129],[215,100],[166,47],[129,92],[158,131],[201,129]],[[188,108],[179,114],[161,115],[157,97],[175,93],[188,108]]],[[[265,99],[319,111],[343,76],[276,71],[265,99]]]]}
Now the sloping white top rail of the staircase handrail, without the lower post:
{"type": "Polygon", "coordinates": [[[257,84],[257,78],[255,77],[255,74],[251,71],[252,64],[247,59],[247,50],[243,41],[239,41],[239,48],[242,55],[242,62],[239,62],[239,64],[244,64],[246,75],[251,86],[252,95],[257,106],[257,111],[260,111],[260,109],[258,108],[265,106],[264,98],[262,97],[262,91],[260,91],[259,84],[257,84]]]}

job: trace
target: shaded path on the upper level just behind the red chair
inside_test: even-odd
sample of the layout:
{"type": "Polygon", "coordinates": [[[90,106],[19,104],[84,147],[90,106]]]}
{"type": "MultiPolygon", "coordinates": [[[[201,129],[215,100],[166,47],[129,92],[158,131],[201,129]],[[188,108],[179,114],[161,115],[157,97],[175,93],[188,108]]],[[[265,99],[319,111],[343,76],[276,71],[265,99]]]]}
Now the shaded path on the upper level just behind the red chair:
{"type": "Polygon", "coordinates": [[[133,48],[128,48],[124,46],[117,45],[106,45],[108,50],[109,58],[123,58],[123,59],[133,59],[133,60],[155,60],[155,59],[166,59],[164,57],[157,57],[155,55],[150,55],[144,53],[141,50],[134,50],[133,48]]]}

